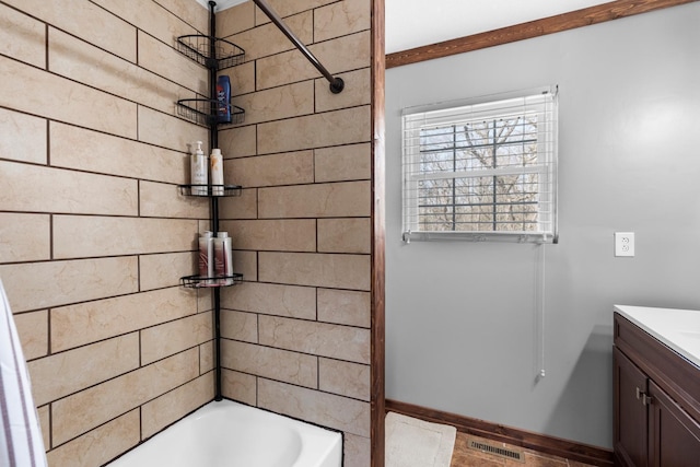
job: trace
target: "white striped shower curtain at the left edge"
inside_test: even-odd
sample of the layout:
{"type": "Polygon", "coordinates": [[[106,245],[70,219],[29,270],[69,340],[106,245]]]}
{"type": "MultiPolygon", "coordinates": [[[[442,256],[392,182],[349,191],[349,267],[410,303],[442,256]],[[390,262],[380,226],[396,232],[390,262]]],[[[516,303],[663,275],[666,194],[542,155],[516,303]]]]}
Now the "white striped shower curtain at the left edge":
{"type": "Polygon", "coordinates": [[[30,376],[0,280],[0,466],[45,467],[30,376]]]}

